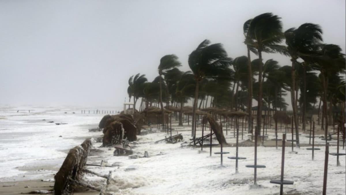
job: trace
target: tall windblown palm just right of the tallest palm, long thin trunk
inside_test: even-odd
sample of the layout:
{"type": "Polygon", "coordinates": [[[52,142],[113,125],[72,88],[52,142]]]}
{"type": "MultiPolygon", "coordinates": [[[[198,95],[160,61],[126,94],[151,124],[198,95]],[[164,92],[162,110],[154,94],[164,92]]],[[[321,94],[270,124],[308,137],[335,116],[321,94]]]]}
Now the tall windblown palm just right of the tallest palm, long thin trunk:
{"type": "MultiPolygon", "coordinates": [[[[317,24],[305,23],[298,28],[290,28],[284,33],[286,38],[286,50],[292,61],[292,91],[295,92],[295,65],[297,59],[315,52],[317,45],[322,41],[322,30],[317,24]]],[[[299,147],[299,129],[297,119],[297,103],[295,96],[292,96],[293,120],[295,125],[295,135],[297,147],[299,147]]]]}

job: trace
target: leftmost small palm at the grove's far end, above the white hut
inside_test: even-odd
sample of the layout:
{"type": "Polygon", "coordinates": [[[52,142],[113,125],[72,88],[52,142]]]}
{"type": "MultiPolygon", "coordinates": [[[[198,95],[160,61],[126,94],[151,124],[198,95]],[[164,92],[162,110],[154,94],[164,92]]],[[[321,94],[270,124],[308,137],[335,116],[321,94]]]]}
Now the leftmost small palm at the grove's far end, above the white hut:
{"type": "Polygon", "coordinates": [[[130,101],[131,101],[131,96],[133,96],[134,109],[136,109],[137,100],[143,91],[143,84],[147,81],[148,79],[145,78],[145,75],[140,75],[139,73],[135,76],[132,75],[128,80],[129,86],[127,88],[127,93],[129,94],[130,101]]]}

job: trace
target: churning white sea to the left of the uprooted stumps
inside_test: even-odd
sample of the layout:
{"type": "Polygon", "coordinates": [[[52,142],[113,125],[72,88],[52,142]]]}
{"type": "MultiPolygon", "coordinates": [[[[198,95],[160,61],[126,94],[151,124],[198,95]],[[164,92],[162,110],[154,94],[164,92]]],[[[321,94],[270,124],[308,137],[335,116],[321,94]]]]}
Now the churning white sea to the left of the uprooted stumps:
{"type": "Polygon", "coordinates": [[[23,175],[27,171],[21,167],[60,167],[69,149],[81,144],[87,137],[100,134],[88,131],[97,128],[104,115],[93,113],[97,109],[102,110],[78,107],[0,107],[0,180],[23,175]],[[85,110],[85,114],[81,110],[85,110]]]}

